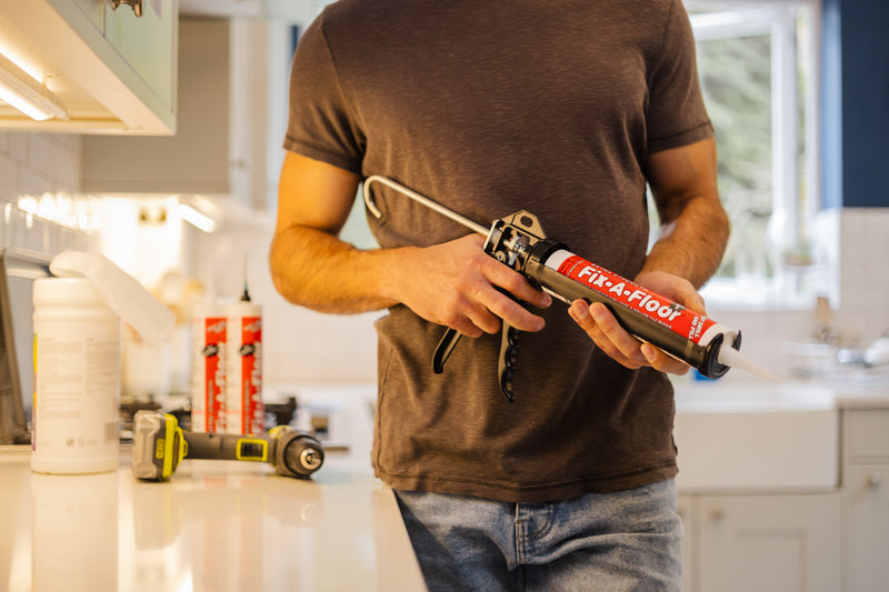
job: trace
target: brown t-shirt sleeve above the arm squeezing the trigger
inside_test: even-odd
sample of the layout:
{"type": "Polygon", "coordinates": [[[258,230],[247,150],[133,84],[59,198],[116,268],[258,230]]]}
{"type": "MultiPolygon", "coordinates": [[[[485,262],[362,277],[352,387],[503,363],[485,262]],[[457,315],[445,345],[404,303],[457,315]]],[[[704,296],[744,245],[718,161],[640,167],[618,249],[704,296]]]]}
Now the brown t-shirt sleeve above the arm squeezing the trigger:
{"type": "Polygon", "coordinates": [[[360,174],[363,136],[340,86],[323,26],[322,13],[293,54],[283,148],[360,174]]]}

